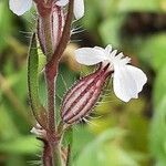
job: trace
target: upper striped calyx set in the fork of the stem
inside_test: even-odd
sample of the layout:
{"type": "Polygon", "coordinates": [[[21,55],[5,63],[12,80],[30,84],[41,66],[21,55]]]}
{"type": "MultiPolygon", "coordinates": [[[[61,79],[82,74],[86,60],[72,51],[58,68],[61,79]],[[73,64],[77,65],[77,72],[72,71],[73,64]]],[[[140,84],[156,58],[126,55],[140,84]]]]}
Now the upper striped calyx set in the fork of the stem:
{"type": "Polygon", "coordinates": [[[39,15],[38,37],[45,55],[54,53],[64,27],[64,13],[61,7],[54,6],[49,14],[39,15]]]}

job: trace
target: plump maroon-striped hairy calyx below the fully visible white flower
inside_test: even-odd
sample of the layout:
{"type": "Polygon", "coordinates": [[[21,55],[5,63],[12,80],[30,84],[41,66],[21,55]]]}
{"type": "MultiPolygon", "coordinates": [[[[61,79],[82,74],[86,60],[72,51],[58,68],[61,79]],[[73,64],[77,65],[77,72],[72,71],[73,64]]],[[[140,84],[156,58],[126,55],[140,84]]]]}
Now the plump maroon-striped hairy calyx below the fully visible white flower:
{"type": "Polygon", "coordinates": [[[108,65],[100,66],[94,73],[81,79],[66,93],[61,107],[62,122],[73,124],[90,114],[111,74],[108,65]]]}

